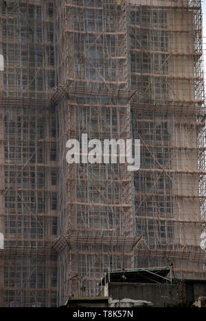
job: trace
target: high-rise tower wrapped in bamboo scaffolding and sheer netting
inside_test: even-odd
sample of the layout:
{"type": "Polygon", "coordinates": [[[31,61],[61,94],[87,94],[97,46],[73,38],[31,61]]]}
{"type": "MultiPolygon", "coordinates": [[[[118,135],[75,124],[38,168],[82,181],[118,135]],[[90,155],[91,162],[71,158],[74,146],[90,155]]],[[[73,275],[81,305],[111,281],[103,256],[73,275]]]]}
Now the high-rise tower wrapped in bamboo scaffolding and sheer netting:
{"type": "Polygon", "coordinates": [[[108,270],[206,278],[201,0],[0,2],[0,306],[96,296],[108,270]],[[68,164],[139,139],[141,166],[68,164]]]}

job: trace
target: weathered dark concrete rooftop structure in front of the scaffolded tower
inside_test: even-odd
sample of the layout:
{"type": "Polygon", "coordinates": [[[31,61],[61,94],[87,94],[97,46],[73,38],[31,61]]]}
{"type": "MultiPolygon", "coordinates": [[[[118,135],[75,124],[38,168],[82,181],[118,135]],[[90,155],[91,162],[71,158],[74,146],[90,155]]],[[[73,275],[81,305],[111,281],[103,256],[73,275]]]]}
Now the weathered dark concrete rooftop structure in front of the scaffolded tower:
{"type": "Polygon", "coordinates": [[[196,301],[199,307],[205,305],[206,281],[185,280],[184,289],[183,293],[181,280],[176,285],[107,283],[99,298],[71,298],[67,307],[166,307],[179,303],[182,294],[187,302],[196,301]]]}

